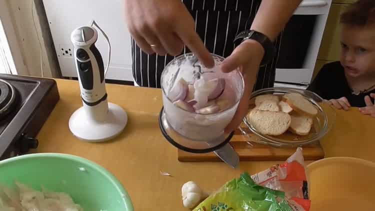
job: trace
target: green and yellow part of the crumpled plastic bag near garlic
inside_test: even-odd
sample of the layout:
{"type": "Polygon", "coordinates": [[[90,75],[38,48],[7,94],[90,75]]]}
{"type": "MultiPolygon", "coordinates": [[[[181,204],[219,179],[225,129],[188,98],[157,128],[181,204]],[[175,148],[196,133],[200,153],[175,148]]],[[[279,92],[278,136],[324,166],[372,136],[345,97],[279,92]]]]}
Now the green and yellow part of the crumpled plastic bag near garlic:
{"type": "Polygon", "coordinates": [[[227,182],[193,211],[292,211],[284,192],[257,185],[248,173],[227,182]]]}

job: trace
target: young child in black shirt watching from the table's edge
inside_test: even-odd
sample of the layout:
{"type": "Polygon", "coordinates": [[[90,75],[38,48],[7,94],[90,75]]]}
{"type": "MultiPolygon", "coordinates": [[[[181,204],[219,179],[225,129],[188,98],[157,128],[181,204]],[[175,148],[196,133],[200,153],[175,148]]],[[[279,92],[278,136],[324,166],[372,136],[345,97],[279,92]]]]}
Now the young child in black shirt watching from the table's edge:
{"type": "Polygon", "coordinates": [[[338,109],[375,117],[375,0],[353,3],[340,23],[340,61],[325,64],[307,89],[338,109]]]}

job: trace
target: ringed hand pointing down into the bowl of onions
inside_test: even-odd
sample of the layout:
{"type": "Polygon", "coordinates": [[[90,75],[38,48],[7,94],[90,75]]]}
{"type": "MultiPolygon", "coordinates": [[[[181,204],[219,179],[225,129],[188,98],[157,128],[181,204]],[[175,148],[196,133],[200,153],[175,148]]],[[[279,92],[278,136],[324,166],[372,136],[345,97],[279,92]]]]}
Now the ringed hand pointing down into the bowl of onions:
{"type": "Polygon", "coordinates": [[[185,44],[206,67],[214,65],[181,0],[125,0],[125,17],[132,37],[144,52],[178,55],[185,44]]]}

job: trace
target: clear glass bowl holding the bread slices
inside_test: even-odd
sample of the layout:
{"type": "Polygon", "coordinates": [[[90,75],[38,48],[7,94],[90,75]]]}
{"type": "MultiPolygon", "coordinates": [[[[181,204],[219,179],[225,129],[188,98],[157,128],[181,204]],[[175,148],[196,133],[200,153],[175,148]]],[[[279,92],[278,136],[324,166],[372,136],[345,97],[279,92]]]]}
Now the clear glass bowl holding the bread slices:
{"type": "MultiPolygon", "coordinates": [[[[252,93],[250,97],[249,109],[255,107],[255,97],[264,94],[275,94],[282,96],[286,93],[299,93],[310,101],[318,110],[317,115],[313,118],[313,126],[307,135],[297,135],[286,131],[282,135],[272,136],[264,135],[257,131],[248,121],[243,118],[243,123],[248,127],[251,133],[258,136],[254,142],[268,144],[275,147],[296,147],[313,143],[320,140],[332,127],[336,119],[334,108],[326,100],[322,99],[314,92],[294,88],[265,88],[252,93]]],[[[249,134],[251,135],[251,134],[249,134]]]]}

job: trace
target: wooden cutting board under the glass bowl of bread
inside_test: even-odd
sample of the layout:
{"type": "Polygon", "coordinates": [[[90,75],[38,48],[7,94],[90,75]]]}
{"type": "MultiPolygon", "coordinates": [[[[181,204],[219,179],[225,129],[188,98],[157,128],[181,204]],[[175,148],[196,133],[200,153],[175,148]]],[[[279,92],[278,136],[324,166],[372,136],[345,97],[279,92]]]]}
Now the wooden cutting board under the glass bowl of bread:
{"type": "MultiPolygon", "coordinates": [[[[249,131],[246,131],[249,132],[249,131]]],[[[234,132],[230,144],[237,152],[239,160],[241,161],[265,161],[265,160],[286,160],[292,153],[295,152],[296,148],[277,148],[265,144],[250,142],[252,146],[247,142],[248,140],[256,141],[258,138],[255,135],[244,136],[239,130],[234,132]]],[[[324,158],[324,151],[320,145],[320,142],[305,145],[303,148],[303,157],[305,160],[318,160],[324,158]]],[[[210,153],[190,153],[178,149],[178,160],[185,161],[220,161],[213,152],[210,153]]]]}

